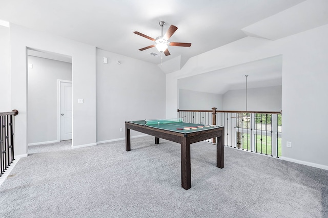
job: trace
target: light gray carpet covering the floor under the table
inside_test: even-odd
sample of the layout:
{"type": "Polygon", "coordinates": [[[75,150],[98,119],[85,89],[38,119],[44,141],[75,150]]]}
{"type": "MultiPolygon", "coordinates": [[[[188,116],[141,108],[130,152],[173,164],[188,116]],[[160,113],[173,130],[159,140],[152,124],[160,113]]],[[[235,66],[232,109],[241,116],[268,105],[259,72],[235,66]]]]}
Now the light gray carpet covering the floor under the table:
{"type": "Polygon", "coordinates": [[[179,144],[67,143],[18,161],[0,186],[1,217],[328,217],[327,170],[228,147],[219,169],[216,146],[199,142],[185,190],[179,144]]]}

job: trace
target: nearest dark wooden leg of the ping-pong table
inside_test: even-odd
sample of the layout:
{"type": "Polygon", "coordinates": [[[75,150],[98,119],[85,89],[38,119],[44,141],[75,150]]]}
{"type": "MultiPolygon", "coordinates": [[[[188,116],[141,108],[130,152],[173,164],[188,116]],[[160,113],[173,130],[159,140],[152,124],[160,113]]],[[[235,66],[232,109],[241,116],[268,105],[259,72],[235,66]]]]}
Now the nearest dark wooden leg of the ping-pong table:
{"type": "Polygon", "coordinates": [[[191,188],[190,141],[189,137],[181,137],[181,183],[182,188],[191,188]]]}

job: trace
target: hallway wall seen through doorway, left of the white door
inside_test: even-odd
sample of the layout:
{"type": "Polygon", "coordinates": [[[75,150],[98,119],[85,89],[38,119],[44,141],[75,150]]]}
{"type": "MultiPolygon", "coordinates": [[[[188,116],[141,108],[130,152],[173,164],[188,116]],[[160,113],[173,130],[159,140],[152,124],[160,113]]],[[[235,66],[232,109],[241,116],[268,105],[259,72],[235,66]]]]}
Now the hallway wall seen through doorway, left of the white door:
{"type": "Polygon", "coordinates": [[[57,140],[57,79],[72,80],[72,64],[28,56],[27,142],[57,140]]]}

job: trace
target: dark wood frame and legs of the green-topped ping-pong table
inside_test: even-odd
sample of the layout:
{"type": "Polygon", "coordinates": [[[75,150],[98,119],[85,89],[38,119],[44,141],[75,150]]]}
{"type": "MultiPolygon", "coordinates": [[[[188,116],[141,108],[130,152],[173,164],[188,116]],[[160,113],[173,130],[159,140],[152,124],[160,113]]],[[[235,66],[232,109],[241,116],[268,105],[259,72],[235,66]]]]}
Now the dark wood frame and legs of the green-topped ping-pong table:
{"type": "Polygon", "coordinates": [[[125,122],[126,150],[131,150],[130,129],[155,136],[155,144],[159,138],[181,144],[181,183],[182,188],[191,188],[190,144],[216,138],[216,166],[224,167],[224,128],[211,128],[199,132],[178,133],[170,130],[149,127],[146,125],[125,122]]]}

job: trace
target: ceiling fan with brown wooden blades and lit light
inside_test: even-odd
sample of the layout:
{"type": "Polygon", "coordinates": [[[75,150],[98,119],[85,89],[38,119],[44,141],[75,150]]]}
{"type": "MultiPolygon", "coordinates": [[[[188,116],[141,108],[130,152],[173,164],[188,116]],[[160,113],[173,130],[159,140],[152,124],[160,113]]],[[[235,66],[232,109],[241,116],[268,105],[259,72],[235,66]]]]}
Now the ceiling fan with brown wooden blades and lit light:
{"type": "Polygon", "coordinates": [[[170,55],[168,50],[169,46],[181,46],[181,47],[190,47],[191,43],[184,42],[169,42],[169,38],[173,35],[173,33],[178,29],[176,26],[171,25],[166,34],[163,36],[163,26],[165,25],[164,21],[159,21],[159,26],[161,27],[161,36],[158,36],[156,39],[145,34],[139,33],[137,31],[133,32],[139,36],[148,38],[152,41],[155,41],[155,45],[147,46],[145,48],[139,49],[139,51],[144,51],[146,49],[150,49],[156,47],[159,52],[163,52],[166,56],[170,55]]]}

